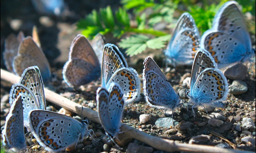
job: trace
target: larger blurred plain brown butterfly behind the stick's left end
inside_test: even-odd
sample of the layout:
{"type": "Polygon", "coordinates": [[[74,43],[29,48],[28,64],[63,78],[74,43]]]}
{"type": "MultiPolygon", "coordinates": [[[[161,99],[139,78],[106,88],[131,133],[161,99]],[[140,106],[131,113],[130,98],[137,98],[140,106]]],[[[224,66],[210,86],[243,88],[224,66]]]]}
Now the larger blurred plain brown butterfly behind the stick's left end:
{"type": "Polygon", "coordinates": [[[14,58],[12,66],[15,74],[21,76],[26,68],[35,65],[40,69],[44,82],[48,82],[51,78],[49,62],[33,39],[26,37],[20,43],[18,55],[14,58]]]}

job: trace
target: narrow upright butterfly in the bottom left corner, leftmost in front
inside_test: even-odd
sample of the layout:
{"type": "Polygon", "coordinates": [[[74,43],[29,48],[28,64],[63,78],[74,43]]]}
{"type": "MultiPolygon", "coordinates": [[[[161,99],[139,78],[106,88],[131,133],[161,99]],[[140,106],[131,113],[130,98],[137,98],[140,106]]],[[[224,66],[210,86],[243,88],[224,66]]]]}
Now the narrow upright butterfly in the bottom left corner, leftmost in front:
{"type": "Polygon", "coordinates": [[[27,147],[23,126],[22,98],[16,98],[6,117],[4,130],[2,131],[3,145],[7,149],[20,151],[27,147]]]}

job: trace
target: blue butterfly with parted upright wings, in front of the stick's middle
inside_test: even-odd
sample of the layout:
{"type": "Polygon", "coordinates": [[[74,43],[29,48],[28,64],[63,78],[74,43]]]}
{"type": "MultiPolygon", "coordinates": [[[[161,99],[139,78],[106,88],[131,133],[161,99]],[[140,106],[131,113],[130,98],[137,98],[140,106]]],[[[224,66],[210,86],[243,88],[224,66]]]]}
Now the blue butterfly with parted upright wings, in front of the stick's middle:
{"type": "MultiPolygon", "coordinates": [[[[97,110],[100,123],[108,137],[120,133],[121,119],[124,108],[122,88],[113,82],[109,88],[100,87],[97,90],[97,110]]],[[[111,137],[110,137],[111,138],[111,137]]],[[[113,141],[113,139],[111,138],[113,141]]],[[[114,141],[113,141],[114,142],[114,141]]]]}

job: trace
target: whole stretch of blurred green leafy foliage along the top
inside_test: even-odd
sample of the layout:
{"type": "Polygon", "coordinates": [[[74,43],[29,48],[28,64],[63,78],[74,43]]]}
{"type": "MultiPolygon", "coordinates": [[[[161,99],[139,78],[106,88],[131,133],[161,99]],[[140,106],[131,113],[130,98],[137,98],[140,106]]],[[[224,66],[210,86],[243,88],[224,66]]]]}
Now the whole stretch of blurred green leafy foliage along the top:
{"type": "MultiPolygon", "coordinates": [[[[91,14],[77,24],[82,29],[82,34],[91,39],[97,33],[112,33],[120,38],[124,33],[133,35],[122,39],[119,46],[127,49],[126,54],[133,56],[143,52],[147,48],[161,49],[170,40],[171,35],[162,31],[156,31],[153,27],[157,23],[173,23],[174,12],[182,13],[185,9],[195,19],[196,25],[204,33],[212,27],[212,20],[228,0],[217,0],[209,5],[207,0],[121,0],[123,7],[113,11],[110,6],[101,8],[98,12],[93,10],[91,14]],[[178,5],[185,9],[178,10],[178,5]],[[128,10],[132,10],[137,26],[130,25],[128,10]],[[135,33],[135,34],[134,34],[135,33]]],[[[250,11],[255,15],[255,0],[237,0],[243,5],[243,12],[250,11]],[[253,13],[254,12],[254,13],[253,13]]],[[[249,30],[255,34],[255,22],[248,21],[249,30]]]]}

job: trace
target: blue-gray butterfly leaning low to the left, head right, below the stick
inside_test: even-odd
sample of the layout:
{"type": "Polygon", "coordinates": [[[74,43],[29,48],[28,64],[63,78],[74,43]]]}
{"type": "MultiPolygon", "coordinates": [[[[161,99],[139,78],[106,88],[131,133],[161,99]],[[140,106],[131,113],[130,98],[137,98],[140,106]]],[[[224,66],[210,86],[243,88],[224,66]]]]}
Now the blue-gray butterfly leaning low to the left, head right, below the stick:
{"type": "Polygon", "coordinates": [[[78,120],[46,110],[32,110],[28,122],[36,141],[50,152],[64,151],[90,135],[87,120],[78,120]]]}

